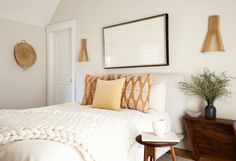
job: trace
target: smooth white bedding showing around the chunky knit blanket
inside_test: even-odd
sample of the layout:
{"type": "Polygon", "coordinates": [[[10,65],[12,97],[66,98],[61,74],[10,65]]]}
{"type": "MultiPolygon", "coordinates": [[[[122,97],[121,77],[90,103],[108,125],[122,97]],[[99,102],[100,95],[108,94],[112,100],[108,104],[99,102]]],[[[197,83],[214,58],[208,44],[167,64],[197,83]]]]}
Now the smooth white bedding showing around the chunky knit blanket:
{"type": "MultiPolygon", "coordinates": [[[[140,132],[152,131],[152,121],[166,119],[170,130],[170,118],[167,113],[148,111],[141,113],[134,110],[124,109],[121,112],[93,109],[89,106],[81,106],[78,103],[62,104],[57,106],[43,107],[49,110],[60,110],[67,112],[80,112],[83,110],[92,113],[116,113],[116,115],[127,116],[127,119],[140,132]]],[[[163,155],[169,148],[157,148],[157,157],[163,155]]],[[[115,157],[115,156],[114,156],[115,157]]],[[[46,140],[27,140],[12,142],[0,146],[0,161],[85,161],[83,156],[73,147],[46,140]]],[[[130,161],[143,160],[143,146],[135,143],[129,153],[130,161]]]]}

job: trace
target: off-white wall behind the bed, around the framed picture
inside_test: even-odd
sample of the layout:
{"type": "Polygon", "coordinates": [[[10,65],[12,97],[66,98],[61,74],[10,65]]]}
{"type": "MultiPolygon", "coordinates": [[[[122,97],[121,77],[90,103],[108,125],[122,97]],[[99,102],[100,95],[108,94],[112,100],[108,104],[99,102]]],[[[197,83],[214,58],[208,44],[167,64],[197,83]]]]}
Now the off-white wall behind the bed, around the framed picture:
{"type": "MultiPolygon", "coordinates": [[[[76,18],[78,38],[87,38],[90,62],[77,63],[77,99],[83,95],[86,73],[174,72],[189,78],[208,67],[236,76],[236,1],[235,0],[61,0],[51,23],[76,18]],[[103,69],[102,27],[160,13],[169,13],[170,66],[132,69],[103,69]],[[226,52],[201,53],[207,32],[208,16],[221,16],[221,32],[226,52]]],[[[236,119],[236,80],[233,95],[218,101],[218,117],[236,119]]],[[[188,108],[197,109],[190,101],[188,108]]],[[[174,107],[173,107],[174,108],[174,107]]]]}

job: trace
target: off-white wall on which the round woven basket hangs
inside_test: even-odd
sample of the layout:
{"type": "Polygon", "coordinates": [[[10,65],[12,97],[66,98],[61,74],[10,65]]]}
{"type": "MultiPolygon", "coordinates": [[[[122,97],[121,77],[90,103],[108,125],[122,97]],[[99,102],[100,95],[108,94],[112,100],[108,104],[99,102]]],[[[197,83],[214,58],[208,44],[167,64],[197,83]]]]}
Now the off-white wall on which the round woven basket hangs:
{"type": "Polygon", "coordinates": [[[46,104],[45,29],[0,19],[0,109],[30,108],[46,104]],[[30,43],[37,61],[24,71],[15,61],[14,46],[22,39],[30,43]]]}

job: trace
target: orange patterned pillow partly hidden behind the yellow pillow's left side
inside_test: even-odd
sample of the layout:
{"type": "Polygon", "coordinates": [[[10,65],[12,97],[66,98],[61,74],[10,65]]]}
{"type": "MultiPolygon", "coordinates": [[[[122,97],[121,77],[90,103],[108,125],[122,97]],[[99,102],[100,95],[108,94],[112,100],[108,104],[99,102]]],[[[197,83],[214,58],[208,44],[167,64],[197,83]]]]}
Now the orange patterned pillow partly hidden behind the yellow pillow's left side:
{"type": "Polygon", "coordinates": [[[87,74],[84,82],[84,97],[82,100],[82,105],[92,105],[98,79],[115,80],[119,78],[121,78],[120,74],[109,74],[104,76],[91,76],[87,74]]]}

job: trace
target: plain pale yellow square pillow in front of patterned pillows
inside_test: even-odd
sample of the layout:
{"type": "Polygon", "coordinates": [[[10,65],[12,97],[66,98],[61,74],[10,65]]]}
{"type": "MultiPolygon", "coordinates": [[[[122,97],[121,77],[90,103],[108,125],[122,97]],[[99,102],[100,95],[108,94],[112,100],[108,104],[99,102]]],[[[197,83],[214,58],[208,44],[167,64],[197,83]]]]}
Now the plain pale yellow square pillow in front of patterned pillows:
{"type": "Polygon", "coordinates": [[[97,80],[92,107],[121,110],[120,103],[125,80],[125,78],[112,81],[97,80]]]}

